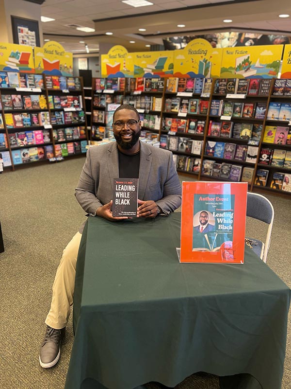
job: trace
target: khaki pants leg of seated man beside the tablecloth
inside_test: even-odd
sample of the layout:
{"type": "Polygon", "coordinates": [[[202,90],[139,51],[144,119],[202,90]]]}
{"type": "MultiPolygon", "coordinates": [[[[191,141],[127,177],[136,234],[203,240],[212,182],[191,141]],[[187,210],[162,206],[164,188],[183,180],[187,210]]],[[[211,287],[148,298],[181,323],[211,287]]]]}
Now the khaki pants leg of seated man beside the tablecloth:
{"type": "Polygon", "coordinates": [[[46,318],[46,324],[56,330],[64,328],[70,316],[70,306],[73,304],[74,298],[76,263],[81,237],[81,233],[77,232],[63,251],[63,256],[52,286],[52,300],[50,311],[46,318]]]}

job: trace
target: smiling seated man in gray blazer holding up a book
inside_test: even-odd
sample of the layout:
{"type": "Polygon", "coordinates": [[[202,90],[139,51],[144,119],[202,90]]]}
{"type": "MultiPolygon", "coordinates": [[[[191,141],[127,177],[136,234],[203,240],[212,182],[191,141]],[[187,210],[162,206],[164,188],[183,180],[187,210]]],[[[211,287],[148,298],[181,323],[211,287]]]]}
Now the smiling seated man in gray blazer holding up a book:
{"type": "MultiPolygon", "coordinates": [[[[113,178],[139,178],[137,217],[167,216],[181,204],[181,185],[172,153],[139,141],[141,122],[133,106],[119,106],[113,115],[116,142],[91,147],[75,191],[87,216],[118,222],[127,217],[112,216],[113,178]]],[[[43,368],[60,358],[61,341],[73,304],[76,262],[83,226],[63,252],[52,288],[52,301],[46,318],[47,331],[40,348],[43,368]]]]}

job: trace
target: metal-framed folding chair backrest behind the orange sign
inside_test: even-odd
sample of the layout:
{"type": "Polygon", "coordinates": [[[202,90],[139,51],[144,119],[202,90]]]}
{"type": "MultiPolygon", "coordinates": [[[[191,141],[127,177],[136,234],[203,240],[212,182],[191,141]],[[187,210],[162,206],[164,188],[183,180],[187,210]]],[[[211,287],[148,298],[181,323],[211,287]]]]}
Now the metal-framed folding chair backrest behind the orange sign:
{"type": "Polygon", "coordinates": [[[246,215],[269,225],[262,260],[266,262],[274,221],[274,208],[270,200],[258,193],[247,193],[246,215]]]}

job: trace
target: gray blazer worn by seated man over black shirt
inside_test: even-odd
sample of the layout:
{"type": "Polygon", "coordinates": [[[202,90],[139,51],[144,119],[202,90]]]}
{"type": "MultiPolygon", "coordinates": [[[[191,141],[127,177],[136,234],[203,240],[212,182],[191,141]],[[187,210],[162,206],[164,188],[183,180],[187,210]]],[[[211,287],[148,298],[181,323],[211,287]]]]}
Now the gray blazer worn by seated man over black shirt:
{"type": "MultiPolygon", "coordinates": [[[[87,216],[95,216],[98,207],[112,200],[113,178],[117,177],[116,142],[90,147],[75,191],[87,216]]],[[[140,142],[138,198],[153,200],[163,212],[170,213],[181,205],[181,193],[172,152],[140,142]]]]}

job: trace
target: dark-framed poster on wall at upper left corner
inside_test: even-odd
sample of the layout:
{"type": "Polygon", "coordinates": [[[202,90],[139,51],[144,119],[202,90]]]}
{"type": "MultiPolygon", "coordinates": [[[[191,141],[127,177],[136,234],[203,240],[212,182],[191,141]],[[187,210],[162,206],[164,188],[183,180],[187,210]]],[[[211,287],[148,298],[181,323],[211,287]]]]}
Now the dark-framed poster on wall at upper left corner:
{"type": "Polygon", "coordinates": [[[13,43],[40,47],[38,21],[11,15],[13,43]]]}

